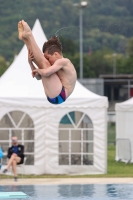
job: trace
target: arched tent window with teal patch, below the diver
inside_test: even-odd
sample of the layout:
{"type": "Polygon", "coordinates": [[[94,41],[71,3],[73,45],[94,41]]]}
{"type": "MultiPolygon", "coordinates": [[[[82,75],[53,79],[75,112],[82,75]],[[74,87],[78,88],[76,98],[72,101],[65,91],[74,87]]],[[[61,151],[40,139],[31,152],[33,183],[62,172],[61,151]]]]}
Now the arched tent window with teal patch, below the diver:
{"type": "Polygon", "coordinates": [[[72,111],[61,119],[59,165],[93,165],[93,123],[85,113],[72,111]]]}

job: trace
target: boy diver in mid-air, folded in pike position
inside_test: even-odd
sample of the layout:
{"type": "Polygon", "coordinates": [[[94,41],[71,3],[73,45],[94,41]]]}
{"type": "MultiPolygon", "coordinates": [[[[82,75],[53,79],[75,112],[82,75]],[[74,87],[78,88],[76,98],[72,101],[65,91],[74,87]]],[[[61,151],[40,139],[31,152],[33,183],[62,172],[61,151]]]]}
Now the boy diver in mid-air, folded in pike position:
{"type": "Polygon", "coordinates": [[[63,103],[74,90],[77,74],[71,61],[63,57],[58,38],[54,36],[44,43],[43,55],[24,20],[18,23],[18,34],[28,48],[32,76],[42,79],[48,101],[52,104],[63,103]]]}

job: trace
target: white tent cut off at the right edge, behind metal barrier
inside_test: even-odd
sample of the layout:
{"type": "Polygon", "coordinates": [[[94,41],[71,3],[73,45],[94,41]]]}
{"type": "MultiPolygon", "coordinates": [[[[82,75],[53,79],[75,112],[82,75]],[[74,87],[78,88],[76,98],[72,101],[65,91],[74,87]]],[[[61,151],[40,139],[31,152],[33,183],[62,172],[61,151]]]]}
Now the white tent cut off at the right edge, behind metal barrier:
{"type": "Polygon", "coordinates": [[[117,103],[116,110],[116,160],[133,162],[133,98],[117,103]]]}

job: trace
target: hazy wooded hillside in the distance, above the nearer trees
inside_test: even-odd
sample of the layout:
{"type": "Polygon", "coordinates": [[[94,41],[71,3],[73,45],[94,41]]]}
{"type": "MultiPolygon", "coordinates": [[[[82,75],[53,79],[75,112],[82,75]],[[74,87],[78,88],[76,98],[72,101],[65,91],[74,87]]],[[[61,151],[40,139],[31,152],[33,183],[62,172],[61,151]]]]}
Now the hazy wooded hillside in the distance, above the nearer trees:
{"type": "MultiPolygon", "coordinates": [[[[31,28],[38,18],[47,38],[58,32],[59,36],[69,35],[79,43],[79,9],[73,6],[76,2],[0,0],[0,55],[9,61],[14,57],[14,52],[22,48],[23,43],[17,38],[17,23],[22,18],[31,28]]],[[[93,51],[106,46],[115,52],[125,53],[125,41],[133,36],[132,5],[132,0],[89,1],[83,13],[84,52],[88,51],[89,46],[93,51]]]]}

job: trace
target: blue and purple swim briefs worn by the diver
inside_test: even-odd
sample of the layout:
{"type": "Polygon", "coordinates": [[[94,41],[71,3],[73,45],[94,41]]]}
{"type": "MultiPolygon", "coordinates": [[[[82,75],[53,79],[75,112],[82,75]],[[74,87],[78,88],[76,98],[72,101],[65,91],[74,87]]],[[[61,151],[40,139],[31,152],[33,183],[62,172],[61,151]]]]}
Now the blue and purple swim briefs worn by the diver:
{"type": "Polygon", "coordinates": [[[64,86],[62,87],[61,93],[55,98],[47,97],[48,101],[52,104],[61,104],[66,100],[66,93],[64,86]]]}

